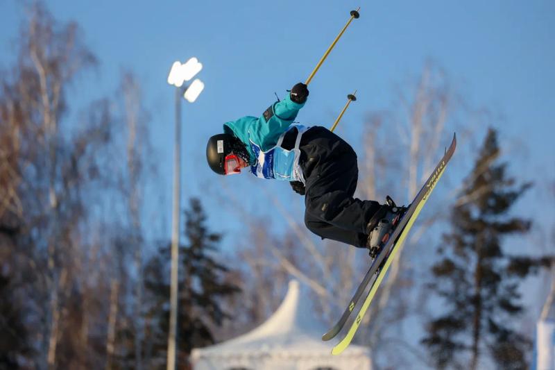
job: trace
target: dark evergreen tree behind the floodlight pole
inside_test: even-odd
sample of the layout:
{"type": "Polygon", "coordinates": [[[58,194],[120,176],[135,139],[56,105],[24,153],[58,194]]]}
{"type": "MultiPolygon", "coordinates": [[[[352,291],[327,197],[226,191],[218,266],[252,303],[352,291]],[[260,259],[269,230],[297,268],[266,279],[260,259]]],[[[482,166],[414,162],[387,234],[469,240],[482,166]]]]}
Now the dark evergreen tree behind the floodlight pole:
{"type": "MultiPolygon", "coordinates": [[[[221,307],[223,298],[239,292],[239,287],[226,283],[228,267],[216,261],[221,234],[206,226],[206,215],[198,199],[191,199],[185,211],[186,244],[180,246],[180,278],[178,294],[178,363],[187,361],[191,349],[214,343],[212,330],[221,326],[230,315],[221,307]]],[[[151,297],[147,315],[156,317],[157,328],[147,328],[152,335],[153,362],[151,367],[164,367],[169,330],[169,263],[170,246],[146,266],[145,287],[151,297]]],[[[147,319],[148,321],[148,319],[147,319]]],[[[148,350],[148,345],[146,345],[148,350]]],[[[145,356],[149,358],[148,353],[145,356]]]]}

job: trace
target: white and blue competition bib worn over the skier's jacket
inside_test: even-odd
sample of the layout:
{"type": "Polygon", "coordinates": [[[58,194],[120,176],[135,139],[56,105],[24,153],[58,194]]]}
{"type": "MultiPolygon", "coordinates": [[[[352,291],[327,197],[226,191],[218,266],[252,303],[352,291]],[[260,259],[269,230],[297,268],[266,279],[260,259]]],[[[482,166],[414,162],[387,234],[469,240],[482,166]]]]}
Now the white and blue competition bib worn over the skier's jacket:
{"type": "Polygon", "coordinates": [[[298,124],[292,124],[288,130],[280,135],[278,144],[272,149],[262,151],[260,146],[250,140],[250,148],[253,149],[257,161],[255,165],[250,166],[250,171],[253,175],[259,178],[275,178],[276,180],[286,181],[300,181],[305,183],[305,177],[302,176],[302,169],[300,169],[300,137],[305,133],[309,127],[298,124]],[[293,127],[298,130],[295,146],[291,150],[283,149],[282,142],[285,134],[293,127]]]}

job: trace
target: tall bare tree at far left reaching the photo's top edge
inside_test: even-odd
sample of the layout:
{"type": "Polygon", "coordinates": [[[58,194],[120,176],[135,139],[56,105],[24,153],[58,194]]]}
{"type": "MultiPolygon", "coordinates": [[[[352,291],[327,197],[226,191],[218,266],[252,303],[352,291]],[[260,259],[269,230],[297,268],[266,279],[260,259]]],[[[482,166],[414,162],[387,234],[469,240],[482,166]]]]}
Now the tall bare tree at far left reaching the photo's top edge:
{"type": "MultiPolygon", "coordinates": [[[[21,209],[22,213],[26,212],[26,217],[35,219],[45,241],[47,274],[44,275],[44,292],[49,292],[49,308],[45,312],[48,325],[44,339],[48,348],[46,363],[55,367],[60,337],[60,289],[65,288],[68,273],[65,264],[60,263],[60,249],[69,241],[68,230],[62,226],[68,216],[62,214],[67,212],[64,190],[72,185],[67,183],[69,178],[63,177],[70,174],[71,167],[64,167],[60,158],[60,149],[65,143],[60,121],[65,114],[65,90],[81,69],[94,64],[94,57],[80,44],[76,24],[56,24],[41,3],[34,3],[28,9],[28,23],[22,31],[20,45],[19,72],[15,74],[17,77],[10,89],[15,97],[8,100],[12,103],[8,104],[7,110],[13,111],[13,101],[17,99],[20,116],[12,119],[12,123],[18,121],[12,130],[19,140],[29,140],[31,137],[22,136],[33,135],[36,143],[35,148],[20,153],[26,158],[26,167],[35,170],[33,178],[24,179],[22,187],[37,196],[32,201],[34,204],[27,204],[28,209],[24,209],[24,205],[21,209]],[[23,132],[22,122],[25,122],[23,132]]],[[[13,203],[17,198],[12,196],[11,199],[13,203]]]]}

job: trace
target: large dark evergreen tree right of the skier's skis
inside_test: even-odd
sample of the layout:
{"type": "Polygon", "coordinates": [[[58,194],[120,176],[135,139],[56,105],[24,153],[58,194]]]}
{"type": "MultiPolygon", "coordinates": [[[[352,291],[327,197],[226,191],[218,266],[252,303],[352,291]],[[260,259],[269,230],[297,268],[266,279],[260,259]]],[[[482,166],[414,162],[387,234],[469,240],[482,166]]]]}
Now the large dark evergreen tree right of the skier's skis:
{"type": "Polygon", "coordinates": [[[427,346],[436,367],[477,369],[487,353],[500,369],[526,369],[531,342],[511,323],[522,312],[515,274],[518,259],[502,248],[509,235],[527,233],[530,221],[509,210],[530,187],[517,185],[498,163],[497,133],[490,129],[461,199],[443,235],[432,289],[445,312],[427,323],[427,346]]]}

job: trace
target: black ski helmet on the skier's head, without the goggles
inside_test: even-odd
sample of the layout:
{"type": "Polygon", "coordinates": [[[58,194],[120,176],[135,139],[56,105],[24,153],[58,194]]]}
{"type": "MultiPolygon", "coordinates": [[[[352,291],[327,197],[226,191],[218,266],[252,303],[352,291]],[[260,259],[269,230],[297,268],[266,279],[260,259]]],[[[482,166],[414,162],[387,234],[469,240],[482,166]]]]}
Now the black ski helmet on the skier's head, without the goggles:
{"type": "Polygon", "coordinates": [[[216,174],[225,175],[223,168],[225,157],[231,152],[239,155],[245,162],[249,162],[245,144],[234,135],[220,133],[210,137],[206,145],[206,160],[212,171],[216,174]]]}

